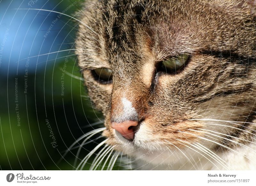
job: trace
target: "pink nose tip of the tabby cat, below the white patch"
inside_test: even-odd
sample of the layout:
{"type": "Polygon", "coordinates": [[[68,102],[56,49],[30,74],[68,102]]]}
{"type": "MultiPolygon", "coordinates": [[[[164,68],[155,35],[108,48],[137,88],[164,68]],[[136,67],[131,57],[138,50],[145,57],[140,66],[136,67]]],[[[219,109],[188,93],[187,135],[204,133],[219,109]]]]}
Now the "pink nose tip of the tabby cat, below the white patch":
{"type": "Polygon", "coordinates": [[[125,137],[128,140],[133,140],[134,138],[134,131],[133,126],[137,126],[137,121],[130,121],[126,120],[122,123],[116,123],[112,122],[111,127],[117,130],[123,137],[125,137]]]}

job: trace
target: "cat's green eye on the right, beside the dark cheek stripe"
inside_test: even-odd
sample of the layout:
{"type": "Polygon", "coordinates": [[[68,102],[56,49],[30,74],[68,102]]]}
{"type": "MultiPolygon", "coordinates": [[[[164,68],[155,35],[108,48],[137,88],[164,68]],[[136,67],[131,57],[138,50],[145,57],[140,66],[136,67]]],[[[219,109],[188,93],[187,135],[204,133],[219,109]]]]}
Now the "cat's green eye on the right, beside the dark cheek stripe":
{"type": "Polygon", "coordinates": [[[166,71],[174,71],[181,69],[185,63],[188,61],[188,55],[187,54],[181,54],[180,56],[175,56],[168,58],[164,61],[162,61],[161,65],[162,68],[166,71]]]}

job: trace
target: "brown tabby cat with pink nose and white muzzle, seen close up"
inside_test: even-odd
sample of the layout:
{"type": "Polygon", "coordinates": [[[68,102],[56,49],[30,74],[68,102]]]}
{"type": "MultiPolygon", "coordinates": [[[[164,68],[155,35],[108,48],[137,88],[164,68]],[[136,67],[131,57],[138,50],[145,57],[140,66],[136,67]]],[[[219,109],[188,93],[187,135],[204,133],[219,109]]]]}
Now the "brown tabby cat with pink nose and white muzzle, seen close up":
{"type": "Polygon", "coordinates": [[[256,170],[255,3],[85,3],[76,54],[105,118],[100,153],[142,170],[256,170]]]}

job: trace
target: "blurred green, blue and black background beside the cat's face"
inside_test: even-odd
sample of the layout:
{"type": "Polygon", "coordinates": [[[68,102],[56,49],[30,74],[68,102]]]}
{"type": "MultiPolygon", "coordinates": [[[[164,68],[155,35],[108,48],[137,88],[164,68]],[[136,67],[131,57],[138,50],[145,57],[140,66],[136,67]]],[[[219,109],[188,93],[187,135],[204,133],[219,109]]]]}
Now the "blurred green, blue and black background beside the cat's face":
{"type": "MultiPolygon", "coordinates": [[[[82,3],[0,1],[1,170],[73,170],[83,140],[65,154],[69,146],[103,127],[72,50],[77,22],[64,15],[75,15],[82,3]]],[[[83,145],[78,163],[102,141],[99,135],[83,145]]]]}

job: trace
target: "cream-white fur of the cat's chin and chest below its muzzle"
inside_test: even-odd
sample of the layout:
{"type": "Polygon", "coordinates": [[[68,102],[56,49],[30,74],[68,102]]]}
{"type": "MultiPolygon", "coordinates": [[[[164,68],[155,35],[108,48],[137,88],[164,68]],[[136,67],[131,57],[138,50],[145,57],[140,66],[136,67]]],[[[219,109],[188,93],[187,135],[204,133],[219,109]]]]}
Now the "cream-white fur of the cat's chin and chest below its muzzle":
{"type": "Polygon", "coordinates": [[[124,146],[123,150],[132,159],[132,169],[138,170],[256,170],[255,152],[250,150],[255,147],[253,140],[247,146],[219,152],[213,157],[191,149],[147,151],[124,146]]]}

